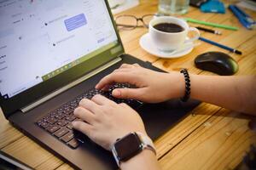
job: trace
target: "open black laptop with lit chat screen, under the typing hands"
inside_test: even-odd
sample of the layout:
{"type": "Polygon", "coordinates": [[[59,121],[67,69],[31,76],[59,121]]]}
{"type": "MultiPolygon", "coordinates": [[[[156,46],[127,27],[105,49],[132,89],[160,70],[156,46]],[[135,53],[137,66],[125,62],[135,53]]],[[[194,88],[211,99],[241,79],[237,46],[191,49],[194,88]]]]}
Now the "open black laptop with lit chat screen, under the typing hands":
{"type": "MultiPolygon", "coordinates": [[[[102,77],[124,63],[161,71],[125,54],[107,0],[0,1],[0,22],[4,116],[74,168],[117,168],[111,152],[70,127],[80,99],[102,94],[131,105],[143,117],[152,139],[199,104],[173,99],[149,105],[114,99],[111,93],[94,89],[102,77]]],[[[129,86],[114,84],[113,88],[129,86]]]]}

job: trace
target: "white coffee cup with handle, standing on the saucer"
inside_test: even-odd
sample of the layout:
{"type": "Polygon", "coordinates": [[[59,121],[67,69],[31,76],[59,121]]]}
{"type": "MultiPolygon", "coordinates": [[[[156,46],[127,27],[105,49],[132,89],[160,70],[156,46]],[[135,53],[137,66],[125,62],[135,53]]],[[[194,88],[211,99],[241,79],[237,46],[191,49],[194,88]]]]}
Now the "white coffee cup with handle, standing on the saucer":
{"type": "Polygon", "coordinates": [[[197,40],[200,37],[200,32],[195,27],[189,27],[188,23],[183,19],[172,16],[160,16],[155,17],[149,22],[149,36],[155,47],[160,51],[172,52],[178,48],[181,48],[184,43],[194,42],[197,40]],[[154,26],[160,23],[172,23],[182,26],[183,31],[166,32],[156,30],[154,26]],[[195,37],[186,39],[189,31],[195,31],[195,37]]]}

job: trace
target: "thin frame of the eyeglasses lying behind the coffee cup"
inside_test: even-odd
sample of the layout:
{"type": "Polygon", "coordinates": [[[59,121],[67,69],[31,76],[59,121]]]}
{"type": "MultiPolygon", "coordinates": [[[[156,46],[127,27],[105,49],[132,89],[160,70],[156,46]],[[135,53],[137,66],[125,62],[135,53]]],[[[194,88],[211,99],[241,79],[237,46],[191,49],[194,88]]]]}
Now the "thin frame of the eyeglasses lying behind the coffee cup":
{"type": "MultiPolygon", "coordinates": [[[[119,15],[119,16],[117,16],[115,19],[114,19],[114,21],[115,21],[115,23],[116,23],[116,26],[123,26],[123,27],[126,27],[126,28],[130,28],[131,27],[131,29],[127,29],[127,30],[134,30],[134,29],[136,29],[137,27],[146,27],[146,28],[148,28],[148,25],[146,25],[146,23],[144,22],[144,20],[143,20],[143,18],[145,18],[145,17],[147,17],[147,16],[160,16],[160,14],[144,14],[142,17],[139,17],[139,18],[137,18],[137,16],[135,16],[135,15],[132,15],[132,14],[122,14],[122,15],[119,15]],[[129,25],[120,25],[120,24],[118,24],[117,22],[116,22],[116,20],[118,20],[120,17],[133,17],[134,19],[136,19],[137,20],[137,25],[136,26],[129,26],[129,25]],[[142,23],[143,23],[143,26],[138,26],[138,21],[142,21],[142,23]]],[[[119,29],[119,28],[118,28],[119,29]]],[[[119,30],[125,30],[125,29],[119,29],[119,30]]]]}

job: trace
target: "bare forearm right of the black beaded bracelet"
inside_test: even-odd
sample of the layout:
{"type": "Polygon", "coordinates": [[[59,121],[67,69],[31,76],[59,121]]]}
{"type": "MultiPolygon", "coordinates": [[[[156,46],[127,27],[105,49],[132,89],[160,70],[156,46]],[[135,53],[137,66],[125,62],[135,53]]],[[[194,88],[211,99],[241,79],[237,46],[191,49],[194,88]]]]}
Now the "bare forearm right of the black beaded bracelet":
{"type": "Polygon", "coordinates": [[[191,98],[256,115],[256,79],[190,75],[191,98]]]}

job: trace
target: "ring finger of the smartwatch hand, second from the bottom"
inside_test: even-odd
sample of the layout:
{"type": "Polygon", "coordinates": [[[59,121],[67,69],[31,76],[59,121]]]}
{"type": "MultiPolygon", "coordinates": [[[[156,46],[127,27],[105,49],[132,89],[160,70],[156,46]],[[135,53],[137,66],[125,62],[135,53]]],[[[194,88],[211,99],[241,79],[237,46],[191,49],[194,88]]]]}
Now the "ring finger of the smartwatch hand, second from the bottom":
{"type": "Polygon", "coordinates": [[[95,115],[83,107],[78,107],[73,111],[73,115],[85,122],[92,124],[95,122],[95,115]]]}

